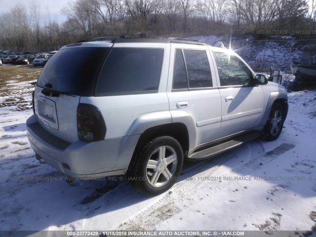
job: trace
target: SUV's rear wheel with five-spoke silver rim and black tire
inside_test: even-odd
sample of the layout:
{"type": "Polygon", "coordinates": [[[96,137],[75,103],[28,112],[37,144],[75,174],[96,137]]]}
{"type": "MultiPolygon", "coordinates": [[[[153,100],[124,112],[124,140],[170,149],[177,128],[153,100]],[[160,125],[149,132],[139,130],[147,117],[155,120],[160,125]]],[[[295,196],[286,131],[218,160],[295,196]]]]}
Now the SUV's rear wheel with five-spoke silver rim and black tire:
{"type": "Polygon", "coordinates": [[[169,136],[155,138],[136,155],[128,179],[142,194],[156,196],[177,181],[183,165],[183,151],[177,140],[169,136]]]}

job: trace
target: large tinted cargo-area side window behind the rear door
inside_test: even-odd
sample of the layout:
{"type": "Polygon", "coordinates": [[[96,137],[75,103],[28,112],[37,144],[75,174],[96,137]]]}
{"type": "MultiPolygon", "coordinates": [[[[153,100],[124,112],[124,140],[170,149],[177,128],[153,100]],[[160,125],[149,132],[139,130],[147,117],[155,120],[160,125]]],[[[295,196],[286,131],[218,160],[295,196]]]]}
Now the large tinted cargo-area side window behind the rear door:
{"type": "Polygon", "coordinates": [[[157,93],[163,49],[113,48],[100,72],[96,96],[157,93]]]}

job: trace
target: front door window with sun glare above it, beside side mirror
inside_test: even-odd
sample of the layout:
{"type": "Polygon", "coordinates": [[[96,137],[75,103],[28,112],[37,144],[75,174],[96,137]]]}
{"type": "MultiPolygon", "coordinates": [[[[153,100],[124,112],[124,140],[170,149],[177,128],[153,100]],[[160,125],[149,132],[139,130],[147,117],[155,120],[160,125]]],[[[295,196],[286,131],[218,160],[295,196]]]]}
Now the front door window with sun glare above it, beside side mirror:
{"type": "Polygon", "coordinates": [[[214,52],[221,86],[248,85],[251,80],[250,70],[234,55],[214,52]]]}

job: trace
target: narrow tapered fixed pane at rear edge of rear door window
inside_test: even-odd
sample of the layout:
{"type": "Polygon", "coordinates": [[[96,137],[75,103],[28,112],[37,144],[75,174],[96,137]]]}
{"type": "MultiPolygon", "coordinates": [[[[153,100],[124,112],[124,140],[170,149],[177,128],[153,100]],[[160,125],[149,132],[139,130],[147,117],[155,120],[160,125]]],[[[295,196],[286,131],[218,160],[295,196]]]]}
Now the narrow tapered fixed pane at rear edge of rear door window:
{"type": "Polygon", "coordinates": [[[172,89],[188,89],[188,79],[186,66],[182,55],[182,50],[177,49],[174,59],[172,89]]]}

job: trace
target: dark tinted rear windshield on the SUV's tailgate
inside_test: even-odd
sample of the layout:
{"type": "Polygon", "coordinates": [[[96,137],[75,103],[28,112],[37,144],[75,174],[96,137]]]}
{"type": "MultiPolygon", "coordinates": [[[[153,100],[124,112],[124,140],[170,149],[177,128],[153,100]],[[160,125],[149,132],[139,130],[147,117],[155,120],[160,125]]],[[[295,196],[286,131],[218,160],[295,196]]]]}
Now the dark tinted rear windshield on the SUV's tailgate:
{"type": "Polygon", "coordinates": [[[56,91],[92,96],[95,78],[108,51],[104,47],[61,49],[47,62],[37,85],[50,83],[56,91]]]}

